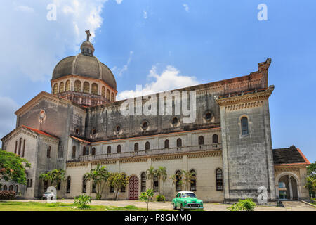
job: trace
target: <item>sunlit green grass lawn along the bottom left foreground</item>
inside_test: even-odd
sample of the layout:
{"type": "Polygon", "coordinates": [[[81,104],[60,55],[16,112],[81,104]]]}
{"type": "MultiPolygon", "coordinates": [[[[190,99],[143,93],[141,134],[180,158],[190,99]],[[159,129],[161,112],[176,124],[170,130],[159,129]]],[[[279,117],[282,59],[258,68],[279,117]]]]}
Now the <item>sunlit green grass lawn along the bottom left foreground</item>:
{"type": "Polygon", "coordinates": [[[66,203],[34,203],[34,202],[0,202],[0,211],[145,211],[133,205],[125,207],[90,205],[88,209],[78,209],[74,204],[66,203]]]}

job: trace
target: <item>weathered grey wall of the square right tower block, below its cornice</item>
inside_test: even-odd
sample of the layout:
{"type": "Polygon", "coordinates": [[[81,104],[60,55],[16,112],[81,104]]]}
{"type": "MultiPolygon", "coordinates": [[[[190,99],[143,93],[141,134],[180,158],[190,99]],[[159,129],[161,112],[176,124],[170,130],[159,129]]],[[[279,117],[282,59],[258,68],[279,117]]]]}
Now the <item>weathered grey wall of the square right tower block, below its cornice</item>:
{"type": "Polygon", "coordinates": [[[228,110],[221,106],[225,200],[254,198],[265,186],[275,200],[275,183],[268,113],[268,99],[262,105],[228,110]],[[242,135],[241,119],[247,117],[249,134],[242,135]]]}

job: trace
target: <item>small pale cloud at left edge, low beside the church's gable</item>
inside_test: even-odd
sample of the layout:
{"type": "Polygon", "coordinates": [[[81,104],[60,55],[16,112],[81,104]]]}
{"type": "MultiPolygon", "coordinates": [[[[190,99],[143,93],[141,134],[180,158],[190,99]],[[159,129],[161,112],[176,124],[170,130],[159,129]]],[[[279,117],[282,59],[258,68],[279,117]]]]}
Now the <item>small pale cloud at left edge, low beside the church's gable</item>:
{"type": "MultiPolygon", "coordinates": [[[[0,139],[15,128],[16,116],[14,112],[19,105],[11,98],[0,96],[0,139]]],[[[1,146],[0,146],[1,148],[1,146]]]]}

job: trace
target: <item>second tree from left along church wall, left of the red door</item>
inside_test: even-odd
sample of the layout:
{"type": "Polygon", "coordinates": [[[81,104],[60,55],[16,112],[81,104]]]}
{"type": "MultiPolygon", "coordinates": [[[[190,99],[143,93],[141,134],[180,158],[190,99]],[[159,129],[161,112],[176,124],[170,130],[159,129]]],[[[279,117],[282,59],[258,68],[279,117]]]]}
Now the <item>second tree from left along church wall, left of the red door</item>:
{"type": "Polygon", "coordinates": [[[107,167],[97,165],[96,168],[91,169],[89,173],[86,173],[86,179],[93,181],[96,185],[96,199],[100,200],[104,186],[107,183],[110,173],[107,171],[107,167]]]}

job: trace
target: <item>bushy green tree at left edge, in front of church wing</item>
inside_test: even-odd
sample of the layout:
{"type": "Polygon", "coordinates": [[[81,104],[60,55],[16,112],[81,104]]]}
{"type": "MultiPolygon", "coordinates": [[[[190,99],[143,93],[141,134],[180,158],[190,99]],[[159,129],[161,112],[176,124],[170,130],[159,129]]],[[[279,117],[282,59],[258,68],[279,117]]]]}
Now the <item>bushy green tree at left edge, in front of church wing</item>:
{"type": "Polygon", "coordinates": [[[0,148],[0,180],[26,185],[25,168],[27,167],[31,167],[31,164],[25,158],[0,148]]]}

